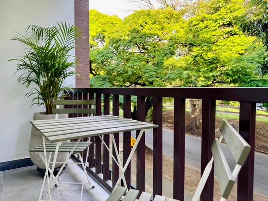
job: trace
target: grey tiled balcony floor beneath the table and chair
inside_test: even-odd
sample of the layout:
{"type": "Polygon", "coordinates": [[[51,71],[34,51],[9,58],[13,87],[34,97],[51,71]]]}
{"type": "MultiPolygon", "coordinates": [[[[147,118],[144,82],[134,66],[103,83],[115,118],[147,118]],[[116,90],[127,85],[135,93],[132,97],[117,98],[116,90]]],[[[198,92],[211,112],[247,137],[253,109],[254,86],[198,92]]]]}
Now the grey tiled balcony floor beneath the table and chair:
{"type": "MultiPolygon", "coordinates": [[[[82,169],[76,164],[68,164],[62,172],[60,181],[80,182],[82,169]]],[[[91,177],[90,177],[91,178],[91,177]]],[[[104,201],[109,194],[91,178],[95,188],[84,186],[83,198],[86,201],[104,201]]],[[[39,198],[42,178],[36,166],[23,167],[0,172],[0,201],[36,201],[39,198]]],[[[81,185],[61,183],[52,189],[52,200],[80,200],[81,185]]]]}

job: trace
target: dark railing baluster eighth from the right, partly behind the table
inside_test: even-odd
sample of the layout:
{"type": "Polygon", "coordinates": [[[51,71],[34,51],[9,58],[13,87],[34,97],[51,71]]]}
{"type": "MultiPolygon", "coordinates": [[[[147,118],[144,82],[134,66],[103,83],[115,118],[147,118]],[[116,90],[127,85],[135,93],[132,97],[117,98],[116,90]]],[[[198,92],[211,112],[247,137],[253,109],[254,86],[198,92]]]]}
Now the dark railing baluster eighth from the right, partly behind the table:
{"type": "MultiPolygon", "coordinates": [[[[110,115],[110,94],[104,94],[104,115],[110,115]]],[[[104,135],[104,142],[110,147],[110,135],[104,135]]],[[[110,157],[108,149],[103,146],[103,180],[109,180],[110,157]]]]}

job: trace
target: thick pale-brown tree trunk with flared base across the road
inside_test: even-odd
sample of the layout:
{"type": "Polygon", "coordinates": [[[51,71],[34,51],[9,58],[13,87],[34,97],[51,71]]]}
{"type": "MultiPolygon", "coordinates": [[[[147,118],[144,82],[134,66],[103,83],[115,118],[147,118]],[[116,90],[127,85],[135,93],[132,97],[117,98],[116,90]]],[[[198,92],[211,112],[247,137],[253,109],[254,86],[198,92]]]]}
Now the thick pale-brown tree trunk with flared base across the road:
{"type": "Polygon", "coordinates": [[[201,120],[202,120],[202,102],[201,100],[190,100],[190,121],[186,126],[185,131],[195,135],[201,135],[201,120]]]}

